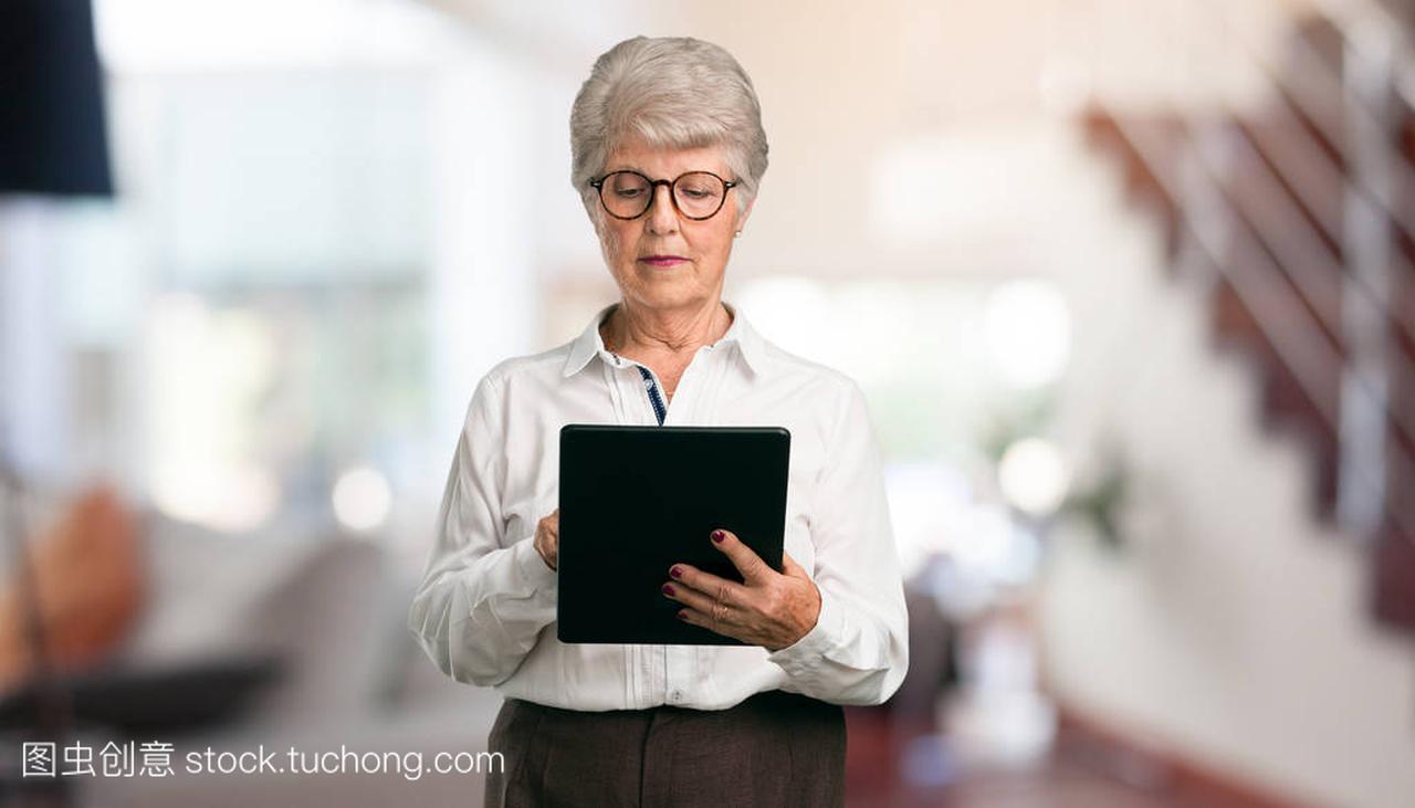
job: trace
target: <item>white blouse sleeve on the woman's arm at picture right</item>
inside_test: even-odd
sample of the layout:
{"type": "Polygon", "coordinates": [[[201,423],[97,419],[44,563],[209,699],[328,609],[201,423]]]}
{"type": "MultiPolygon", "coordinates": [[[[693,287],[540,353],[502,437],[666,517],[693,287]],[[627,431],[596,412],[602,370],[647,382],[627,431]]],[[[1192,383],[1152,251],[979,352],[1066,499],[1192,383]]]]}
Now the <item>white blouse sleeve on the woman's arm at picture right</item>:
{"type": "Polygon", "coordinates": [[[908,618],[890,528],[884,471],[865,395],[855,382],[839,408],[809,511],[815,627],[768,657],[787,689],[835,703],[889,699],[908,669],[908,618]]]}

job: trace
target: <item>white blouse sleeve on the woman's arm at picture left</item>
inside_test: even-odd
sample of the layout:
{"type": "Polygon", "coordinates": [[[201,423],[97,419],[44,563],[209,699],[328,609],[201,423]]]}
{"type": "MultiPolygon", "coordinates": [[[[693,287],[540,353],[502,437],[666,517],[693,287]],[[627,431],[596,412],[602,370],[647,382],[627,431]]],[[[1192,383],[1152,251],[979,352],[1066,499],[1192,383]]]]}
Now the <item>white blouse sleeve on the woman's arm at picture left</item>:
{"type": "Polygon", "coordinates": [[[532,535],[507,536],[501,395],[484,378],[467,408],[437,515],[436,542],[409,610],[419,645],[449,676],[498,685],[555,620],[556,575],[532,535]]]}

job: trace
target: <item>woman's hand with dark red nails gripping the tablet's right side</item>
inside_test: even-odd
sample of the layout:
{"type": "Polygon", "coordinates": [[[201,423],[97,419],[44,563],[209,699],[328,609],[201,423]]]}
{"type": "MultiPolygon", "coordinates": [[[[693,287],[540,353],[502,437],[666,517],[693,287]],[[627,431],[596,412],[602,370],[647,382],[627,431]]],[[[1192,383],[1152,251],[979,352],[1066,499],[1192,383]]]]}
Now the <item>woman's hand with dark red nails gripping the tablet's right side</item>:
{"type": "Polygon", "coordinates": [[[737,567],[743,583],[685,563],[671,566],[664,596],[685,606],[679,620],[768,651],[792,645],[815,628],[821,590],[795,559],[781,553],[782,575],[732,531],[713,531],[712,542],[737,567]]]}

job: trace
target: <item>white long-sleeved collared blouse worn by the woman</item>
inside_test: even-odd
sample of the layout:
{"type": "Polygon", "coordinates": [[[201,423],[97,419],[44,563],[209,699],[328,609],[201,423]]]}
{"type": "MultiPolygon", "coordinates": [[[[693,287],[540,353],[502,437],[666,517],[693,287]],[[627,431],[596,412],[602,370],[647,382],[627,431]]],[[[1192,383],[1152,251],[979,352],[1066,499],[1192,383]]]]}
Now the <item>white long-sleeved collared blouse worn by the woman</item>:
{"type": "MultiPolygon", "coordinates": [[[[613,308],[572,342],[507,359],[477,385],[409,613],[419,644],[457,681],[555,708],[724,709],[771,689],[887,699],[908,666],[907,618],[865,396],[843,374],[767,342],[732,306],[732,327],[698,350],[664,425],[791,432],[785,550],[821,591],[815,627],[777,652],[556,640],[556,573],[532,538],[558,507],[560,427],[658,423],[641,365],[600,340],[613,308]]],[[[624,491],[625,508],[633,500],[624,491]]]]}

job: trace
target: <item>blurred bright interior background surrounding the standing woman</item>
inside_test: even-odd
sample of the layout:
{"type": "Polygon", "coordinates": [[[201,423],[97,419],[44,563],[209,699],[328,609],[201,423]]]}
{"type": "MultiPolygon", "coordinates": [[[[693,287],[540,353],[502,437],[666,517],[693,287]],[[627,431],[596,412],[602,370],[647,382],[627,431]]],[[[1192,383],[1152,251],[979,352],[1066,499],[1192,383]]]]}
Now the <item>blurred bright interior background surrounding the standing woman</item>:
{"type": "Polygon", "coordinates": [[[617,297],[573,95],[691,34],[771,142],[726,297],[856,378],[887,456],[913,664],[849,710],[850,805],[1411,808],[1412,31],[1409,0],[0,3],[0,800],[480,805],[180,760],[485,750],[499,696],[406,607],[477,379],[617,297]],[[61,743],[24,778],[35,737],[177,771],[61,743]]]}

